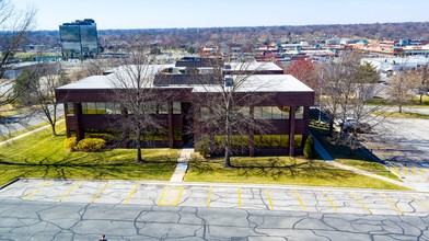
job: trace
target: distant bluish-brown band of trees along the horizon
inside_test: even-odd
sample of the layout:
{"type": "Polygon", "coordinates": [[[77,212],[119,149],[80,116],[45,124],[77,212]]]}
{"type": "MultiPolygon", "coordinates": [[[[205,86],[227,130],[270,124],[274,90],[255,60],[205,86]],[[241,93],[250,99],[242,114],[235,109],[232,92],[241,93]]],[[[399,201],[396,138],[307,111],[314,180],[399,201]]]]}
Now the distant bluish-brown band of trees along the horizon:
{"type": "MultiPolygon", "coordinates": [[[[146,38],[163,48],[201,47],[219,44],[293,43],[301,39],[358,37],[369,39],[429,39],[429,22],[372,24],[315,24],[285,26],[98,30],[100,44],[117,49],[136,38],[146,38]]],[[[23,44],[59,47],[58,31],[31,31],[23,44]]]]}

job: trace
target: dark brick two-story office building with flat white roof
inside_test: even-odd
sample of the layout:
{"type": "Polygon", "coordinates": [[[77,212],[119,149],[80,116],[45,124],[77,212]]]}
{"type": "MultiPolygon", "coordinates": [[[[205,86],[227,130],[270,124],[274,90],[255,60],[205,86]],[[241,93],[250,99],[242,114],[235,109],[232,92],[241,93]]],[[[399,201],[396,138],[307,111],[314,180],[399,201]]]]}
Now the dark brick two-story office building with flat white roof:
{"type": "MultiPolygon", "coordinates": [[[[202,88],[201,83],[210,84],[211,67],[196,65],[198,60],[185,59],[176,65],[148,65],[146,68],[150,70],[146,74],[153,76],[151,88],[156,95],[171,96],[163,99],[162,107],[153,113],[162,126],[162,131],[151,141],[155,147],[182,148],[186,144],[197,142],[204,135],[199,124],[207,113],[194,101],[198,100],[196,96],[210,97],[217,91],[202,88]]],[[[246,84],[237,91],[237,95],[250,92],[255,95],[269,94],[257,106],[242,103],[241,111],[247,117],[264,119],[274,127],[268,133],[252,134],[252,145],[244,153],[299,153],[308,136],[309,108],[314,105],[314,91],[292,76],[282,74],[281,68],[274,64],[255,62],[245,71],[239,65],[231,64],[223,70],[232,79],[236,74],[248,74],[246,84]]],[[[93,133],[115,129],[115,120],[126,113],[112,97],[114,92],[120,91],[112,82],[117,71],[121,71],[120,68],[106,76],[84,78],[56,90],[57,99],[65,104],[68,137],[76,136],[80,140],[93,133]]]]}

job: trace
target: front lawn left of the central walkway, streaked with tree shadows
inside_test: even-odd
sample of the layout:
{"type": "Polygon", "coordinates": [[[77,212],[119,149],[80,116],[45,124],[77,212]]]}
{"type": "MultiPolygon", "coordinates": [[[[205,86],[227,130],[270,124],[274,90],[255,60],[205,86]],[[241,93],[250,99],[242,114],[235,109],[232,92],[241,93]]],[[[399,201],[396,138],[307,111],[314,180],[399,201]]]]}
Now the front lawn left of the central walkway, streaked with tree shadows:
{"type": "Polygon", "coordinates": [[[100,153],[68,152],[63,148],[65,126],[50,128],[0,147],[0,185],[16,177],[170,180],[177,150],[144,149],[144,162],[136,164],[135,149],[114,149],[100,153]]]}

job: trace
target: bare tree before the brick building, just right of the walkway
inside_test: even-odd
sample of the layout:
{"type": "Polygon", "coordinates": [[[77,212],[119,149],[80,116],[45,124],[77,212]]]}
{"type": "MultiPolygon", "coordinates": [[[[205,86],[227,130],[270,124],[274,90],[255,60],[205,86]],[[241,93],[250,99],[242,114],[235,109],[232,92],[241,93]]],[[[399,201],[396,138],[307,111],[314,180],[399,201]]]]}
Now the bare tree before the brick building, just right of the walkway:
{"type": "Polygon", "coordinates": [[[201,138],[209,141],[211,151],[221,149],[224,152],[225,168],[231,167],[234,151],[253,147],[254,134],[265,134],[271,127],[268,122],[254,118],[253,106],[268,100],[270,94],[260,93],[268,87],[252,79],[253,72],[258,69],[251,69],[250,65],[248,61],[237,62],[233,69],[239,74],[229,76],[224,74],[222,61],[218,61],[209,81],[204,78],[198,89],[194,89],[194,92],[198,92],[194,95],[197,99],[194,103],[198,103],[197,110],[201,118],[199,128],[202,133],[208,133],[201,138]],[[223,136],[223,140],[216,141],[216,135],[223,136]],[[234,136],[241,139],[234,139],[234,136]]]}

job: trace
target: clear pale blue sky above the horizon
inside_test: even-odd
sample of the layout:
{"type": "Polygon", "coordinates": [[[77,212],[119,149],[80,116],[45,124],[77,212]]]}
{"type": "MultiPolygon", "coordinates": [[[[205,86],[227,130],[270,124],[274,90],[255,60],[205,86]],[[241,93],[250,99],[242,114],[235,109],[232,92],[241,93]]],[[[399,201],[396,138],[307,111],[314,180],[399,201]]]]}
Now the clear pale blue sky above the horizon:
{"type": "Polygon", "coordinates": [[[98,30],[429,21],[429,0],[12,0],[36,30],[93,19],[98,30]]]}

